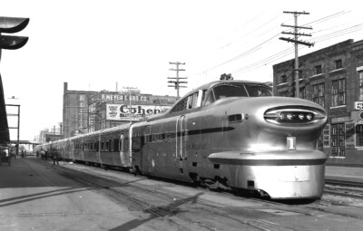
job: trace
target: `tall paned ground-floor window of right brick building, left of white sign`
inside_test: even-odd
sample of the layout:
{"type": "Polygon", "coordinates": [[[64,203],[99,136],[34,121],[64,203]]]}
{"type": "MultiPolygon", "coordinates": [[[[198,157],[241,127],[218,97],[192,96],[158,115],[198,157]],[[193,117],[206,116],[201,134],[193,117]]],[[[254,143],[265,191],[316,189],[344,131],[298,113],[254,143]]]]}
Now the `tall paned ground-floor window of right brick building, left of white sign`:
{"type": "Polygon", "coordinates": [[[344,123],[331,125],[331,156],[345,157],[345,126],[344,123]]]}

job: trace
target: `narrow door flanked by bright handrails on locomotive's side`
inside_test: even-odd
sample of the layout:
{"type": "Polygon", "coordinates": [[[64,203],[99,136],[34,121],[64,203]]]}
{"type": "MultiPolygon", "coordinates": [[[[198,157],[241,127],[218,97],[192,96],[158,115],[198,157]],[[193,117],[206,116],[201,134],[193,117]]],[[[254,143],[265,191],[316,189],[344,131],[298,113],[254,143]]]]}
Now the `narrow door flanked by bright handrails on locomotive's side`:
{"type": "Polygon", "coordinates": [[[175,145],[175,161],[176,167],[179,168],[180,174],[184,174],[186,160],[186,146],[188,142],[187,118],[182,115],[176,121],[176,145],[175,145]]]}

